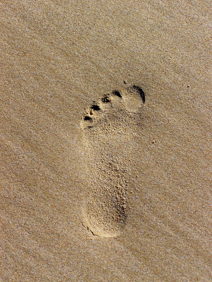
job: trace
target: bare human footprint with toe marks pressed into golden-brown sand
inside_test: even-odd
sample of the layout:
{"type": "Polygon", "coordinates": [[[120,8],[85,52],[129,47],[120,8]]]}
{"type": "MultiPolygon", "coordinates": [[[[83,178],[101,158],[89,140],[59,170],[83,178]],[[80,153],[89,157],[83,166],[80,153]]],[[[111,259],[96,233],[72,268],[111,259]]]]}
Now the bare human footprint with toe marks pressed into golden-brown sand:
{"type": "Polygon", "coordinates": [[[115,237],[127,219],[132,141],[141,130],[145,94],[138,86],[112,91],[85,109],[81,126],[87,162],[84,222],[93,235],[115,237]]]}

